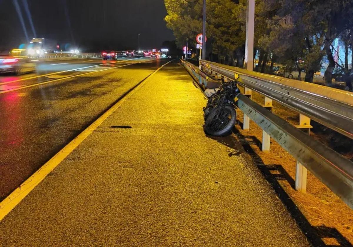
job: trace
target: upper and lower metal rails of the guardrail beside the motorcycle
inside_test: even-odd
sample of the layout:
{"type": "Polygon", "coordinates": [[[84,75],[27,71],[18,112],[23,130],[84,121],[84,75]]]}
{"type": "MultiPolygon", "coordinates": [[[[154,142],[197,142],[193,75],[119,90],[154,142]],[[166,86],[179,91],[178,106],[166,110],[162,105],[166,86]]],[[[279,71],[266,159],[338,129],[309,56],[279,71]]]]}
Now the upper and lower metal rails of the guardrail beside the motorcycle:
{"type": "MultiPolygon", "coordinates": [[[[205,72],[202,72],[196,66],[193,66],[188,62],[182,61],[181,64],[189,72],[191,71],[191,73],[200,73],[199,77],[205,78],[208,76],[205,72]]],[[[235,79],[234,73],[237,73],[239,74],[237,80],[239,80],[243,86],[253,89],[265,96],[271,96],[271,98],[275,100],[278,99],[280,103],[291,107],[297,112],[304,112],[304,110],[305,112],[310,110],[321,110],[321,112],[324,113],[325,111],[330,112],[340,106],[345,107],[344,109],[350,111],[352,111],[353,108],[353,104],[348,104],[351,100],[349,97],[352,97],[352,95],[346,94],[345,98],[342,99],[344,103],[340,103],[337,102],[336,98],[332,99],[332,97],[328,97],[330,89],[326,90],[322,88],[322,86],[319,88],[319,92],[314,94],[312,91],[313,88],[308,89],[308,87],[305,87],[306,90],[303,90],[303,83],[298,83],[296,81],[294,82],[300,85],[294,85],[290,81],[281,83],[283,78],[250,72],[231,66],[218,65],[208,61],[201,61],[201,65],[205,70],[207,69],[208,72],[216,77],[235,79]],[[305,95],[307,95],[307,97],[305,97],[305,95]],[[325,102],[325,104],[321,104],[322,102],[325,102]],[[299,103],[300,105],[298,105],[299,103]],[[324,108],[327,104],[334,104],[334,106],[330,105],[328,107],[329,109],[324,108]]],[[[306,84],[304,85],[307,86],[306,84]]],[[[337,92],[341,94],[341,96],[342,92],[345,93],[344,91],[341,92],[341,90],[338,90],[337,92]]],[[[239,95],[238,99],[239,109],[242,110],[245,115],[260,126],[265,133],[269,134],[271,138],[309,169],[312,174],[314,174],[351,209],[353,209],[353,162],[316,141],[310,137],[310,135],[307,135],[287,121],[281,119],[279,116],[276,116],[265,107],[252,101],[250,98],[244,95],[239,95]]],[[[349,120],[349,117],[346,117],[352,116],[352,112],[342,113],[341,109],[338,113],[339,114],[337,115],[340,116],[340,119],[346,118],[346,123],[350,121],[349,124],[352,125],[353,122],[349,120]]],[[[325,119],[320,117],[319,114],[310,115],[318,115],[318,118],[321,121],[324,121],[325,119]]],[[[331,123],[327,125],[333,123],[334,121],[331,121],[331,123]]],[[[343,129],[349,131],[350,128],[343,129]]]]}

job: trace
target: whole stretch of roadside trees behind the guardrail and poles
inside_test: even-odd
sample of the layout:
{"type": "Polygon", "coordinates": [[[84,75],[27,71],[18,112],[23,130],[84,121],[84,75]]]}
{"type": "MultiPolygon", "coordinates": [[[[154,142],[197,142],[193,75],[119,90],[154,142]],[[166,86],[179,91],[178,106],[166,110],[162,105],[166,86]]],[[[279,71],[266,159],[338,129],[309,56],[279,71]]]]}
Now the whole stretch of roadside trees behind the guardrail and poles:
{"type": "MultiPolygon", "coordinates": [[[[202,30],[202,1],[164,0],[165,17],[179,47],[196,47],[202,30]]],[[[353,61],[353,1],[349,0],[256,0],[255,70],[281,73],[295,70],[296,77],[313,82],[325,61],[324,84],[333,74],[351,74],[353,61]],[[335,58],[339,38],[344,58],[335,58]],[[351,53],[351,54],[349,54],[351,53]]],[[[245,53],[246,0],[207,0],[207,59],[243,67],[245,53]]],[[[283,75],[283,74],[282,74],[283,75]]]]}

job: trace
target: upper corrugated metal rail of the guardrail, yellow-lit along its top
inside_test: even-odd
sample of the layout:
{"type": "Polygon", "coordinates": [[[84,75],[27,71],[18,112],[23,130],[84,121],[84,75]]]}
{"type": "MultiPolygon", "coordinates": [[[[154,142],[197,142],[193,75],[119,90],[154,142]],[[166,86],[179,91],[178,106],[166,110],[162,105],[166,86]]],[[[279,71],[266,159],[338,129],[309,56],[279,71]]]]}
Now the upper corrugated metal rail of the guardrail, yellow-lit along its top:
{"type": "Polygon", "coordinates": [[[239,83],[353,139],[353,94],[326,86],[271,76],[214,62],[200,62],[205,70],[239,83]]]}

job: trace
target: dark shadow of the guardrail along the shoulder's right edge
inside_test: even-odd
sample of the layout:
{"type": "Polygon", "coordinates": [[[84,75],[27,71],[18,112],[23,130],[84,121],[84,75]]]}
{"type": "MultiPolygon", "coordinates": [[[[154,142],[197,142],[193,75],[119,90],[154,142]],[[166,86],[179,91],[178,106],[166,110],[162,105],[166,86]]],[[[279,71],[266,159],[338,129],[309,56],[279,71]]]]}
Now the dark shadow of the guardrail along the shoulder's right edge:
{"type": "Polygon", "coordinates": [[[243,151],[241,150],[240,145],[243,149],[249,154],[254,164],[257,165],[259,171],[261,171],[263,177],[270,183],[271,187],[277,194],[278,198],[282,201],[282,203],[287,208],[288,212],[297,223],[300,230],[305,234],[307,240],[312,246],[324,246],[324,247],[333,247],[333,246],[345,246],[351,247],[352,244],[348,242],[348,240],[342,236],[342,234],[337,231],[335,228],[320,226],[313,227],[309,221],[305,218],[303,213],[298,209],[297,205],[295,205],[294,201],[289,197],[287,192],[282,188],[279,183],[279,180],[287,180],[288,183],[294,188],[295,181],[291,176],[287,173],[287,171],[282,167],[282,165],[274,164],[274,165],[266,165],[264,164],[262,158],[252,149],[247,139],[251,139],[258,145],[258,139],[252,135],[244,136],[241,134],[238,129],[233,127],[232,132],[234,135],[237,135],[238,139],[233,135],[229,135],[226,137],[212,137],[207,135],[207,137],[218,141],[219,143],[230,147],[236,151],[229,151],[229,156],[238,156],[243,151]],[[275,173],[271,173],[271,171],[275,171],[275,173]],[[323,238],[333,238],[335,239],[339,245],[325,245],[323,238]]]}

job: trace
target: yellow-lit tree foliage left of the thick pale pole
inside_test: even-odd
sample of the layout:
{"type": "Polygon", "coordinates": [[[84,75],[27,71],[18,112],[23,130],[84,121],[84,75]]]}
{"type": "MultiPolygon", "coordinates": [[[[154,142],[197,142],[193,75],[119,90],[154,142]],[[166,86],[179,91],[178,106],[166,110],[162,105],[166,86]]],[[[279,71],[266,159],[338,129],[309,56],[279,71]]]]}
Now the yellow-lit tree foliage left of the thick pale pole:
{"type": "MultiPolygon", "coordinates": [[[[168,15],[167,27],[172,29],[179,46],[186,40],[195,46],[195,37],[202,31],[202,0],[164,1],[168,15]]],[[[245,11],[245,0],[208,0],[207,1],[207,36],[212,52],[228,56],[232,64],[243,66],[245,28],[241,16],[245,11]],[[237,52],[240,50],[240,52],[237,52]]]]}

